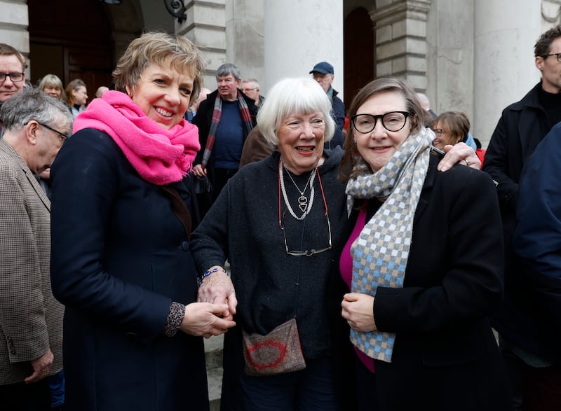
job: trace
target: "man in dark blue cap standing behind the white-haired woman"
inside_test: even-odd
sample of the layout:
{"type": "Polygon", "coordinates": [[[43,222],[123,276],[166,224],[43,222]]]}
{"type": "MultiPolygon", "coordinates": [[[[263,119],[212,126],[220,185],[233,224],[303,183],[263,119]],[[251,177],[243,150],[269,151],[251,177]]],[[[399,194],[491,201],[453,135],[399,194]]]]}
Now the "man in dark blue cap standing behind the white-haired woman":
{"type": "Polygon", "coordinates": [[[342,100],[337,97],[339,94],[337,90],[334,90],[331,86],[335,78],[333,66],[328,62],[319,62],[313,66],[310,74],[313,76],[315,81],[320,83],[323,91],[327,93],[327,97],[329,97],[333,108],[333,120],[335,120],[335,124],[337,125],[337,127],[335,127],[333,138],[325,143],[325,148],[335,148],[337,146],[342,147],[344,142],[343,126],[345,125],[345,106],[342,100]]]}

